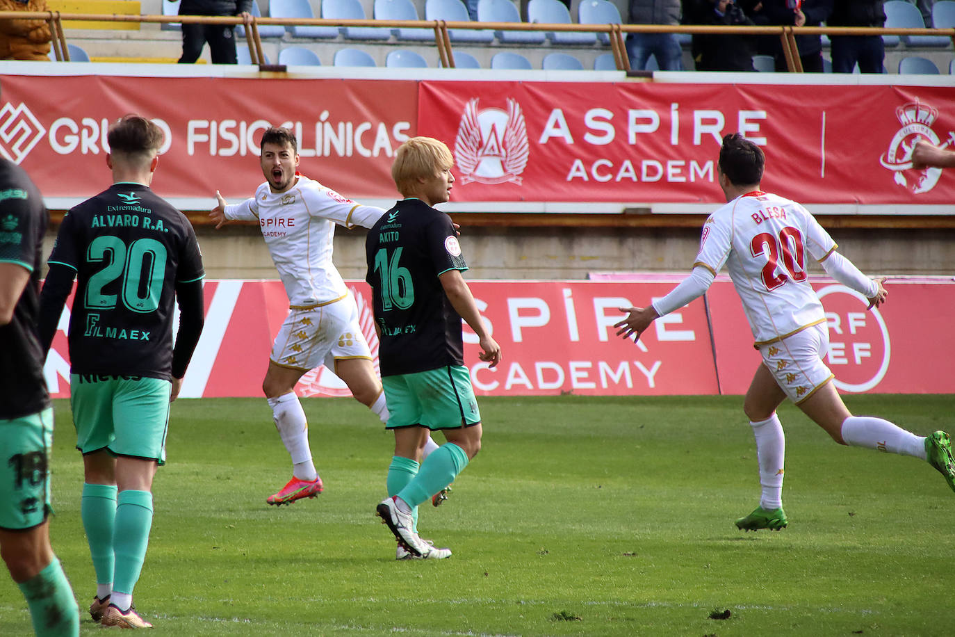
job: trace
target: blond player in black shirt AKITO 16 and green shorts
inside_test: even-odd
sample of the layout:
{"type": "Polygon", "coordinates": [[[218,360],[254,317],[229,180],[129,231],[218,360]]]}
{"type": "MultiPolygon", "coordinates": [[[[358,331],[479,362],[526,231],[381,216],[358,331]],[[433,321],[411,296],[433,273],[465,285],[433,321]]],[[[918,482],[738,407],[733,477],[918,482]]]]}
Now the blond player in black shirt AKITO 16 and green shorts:
{"type": "Polygon", "coordinates": [[[433,206],[451,198],[454,159],[442,142],[411,138],[394,158],[392,177],[405,198],[377,221],[365,242],[382,384],[394,432],[389,498],[377,515],[398,541],[397,559],[442,559],[451,550],[422,540],[417,507],[439,493],[480,450],[481,419],[464,367],[461,319],[477,334],[482,361],[500,348],[484,329],[451,218],[433,206]],[[422,460],[430,431],[447,443],[422,460]]]}

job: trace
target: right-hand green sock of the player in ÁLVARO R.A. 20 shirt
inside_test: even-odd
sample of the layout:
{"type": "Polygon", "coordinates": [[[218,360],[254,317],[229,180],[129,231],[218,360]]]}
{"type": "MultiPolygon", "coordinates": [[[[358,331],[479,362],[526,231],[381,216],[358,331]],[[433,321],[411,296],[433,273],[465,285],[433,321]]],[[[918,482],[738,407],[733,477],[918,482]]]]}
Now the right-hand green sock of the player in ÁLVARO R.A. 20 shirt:
{"type": "Polygon", "coordinates": [[[113,590],[133,594],[139,571],[146,559],[149,529],[153,525],[153,494],[132,489],[119,492],[113,546],[116,552],[116,576],[113,590]]]}

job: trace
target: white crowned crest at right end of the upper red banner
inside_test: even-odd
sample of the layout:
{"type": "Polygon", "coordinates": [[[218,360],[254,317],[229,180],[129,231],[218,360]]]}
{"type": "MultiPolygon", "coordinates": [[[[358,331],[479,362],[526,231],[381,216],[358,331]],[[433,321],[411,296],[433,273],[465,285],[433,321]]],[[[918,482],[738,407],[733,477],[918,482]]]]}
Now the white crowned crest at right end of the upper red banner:
{"type": "Polygon", "coordinates": [[[948,132],[948,138],[940,144],[939,136],[932,130],[932,123],[939,117],[938,110],[922,102],[909,102],[896,109],[896,117],[902,128],[889,142],[889,149],[880,163],[895,173],[895,182],[916,195],[928,192],[935,187],[942,175],[941,168],[913,168],[912,149],[919,139],[927,139],[943,148],[955,144],[955,131],[948,132]]]}

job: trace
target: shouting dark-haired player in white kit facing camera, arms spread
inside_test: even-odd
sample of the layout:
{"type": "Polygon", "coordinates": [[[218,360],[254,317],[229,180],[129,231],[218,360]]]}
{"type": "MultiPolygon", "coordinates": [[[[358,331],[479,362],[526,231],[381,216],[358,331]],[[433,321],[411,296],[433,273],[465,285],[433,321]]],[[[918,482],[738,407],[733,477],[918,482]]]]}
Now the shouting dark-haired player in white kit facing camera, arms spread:
{"type": "MultiPolygon", "coordinates": [[[[388,420],[371,350],[358,324],[354,297],[331,260],[335,225],[371,227],[383,209],[360,205],[298,172],[295,136],[270,128],[262,136],[260,165],[265,183],[244,202],[218,205],[209,218],[222,227],[232,220],[259,223],[265,245],[288,295],[289,311],[275,336],[262,390],[272,419],[292,459],[292,478],[268,504],[291,504],[322,493],[308,445],[308,420],[294,388],[309,370],[325,365],[348,385],[355,399],[388,420]]],[[[437,445],[432,443],[431,449],[437,445]]]]}

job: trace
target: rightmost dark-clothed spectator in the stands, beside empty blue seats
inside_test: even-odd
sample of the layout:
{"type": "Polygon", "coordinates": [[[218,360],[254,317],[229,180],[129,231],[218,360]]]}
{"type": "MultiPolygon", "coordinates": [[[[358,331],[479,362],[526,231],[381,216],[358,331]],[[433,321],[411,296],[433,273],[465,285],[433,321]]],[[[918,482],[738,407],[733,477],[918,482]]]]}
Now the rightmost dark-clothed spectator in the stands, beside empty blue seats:
{"type": "MultiPolygon", "coordinates": [[[[882,27],[884,0],[839,0],[826,24],[830,27],[882,27]]],[[[882,73],[885,45],[881,35],[832,35],[833,73],[882,73]]]]}

